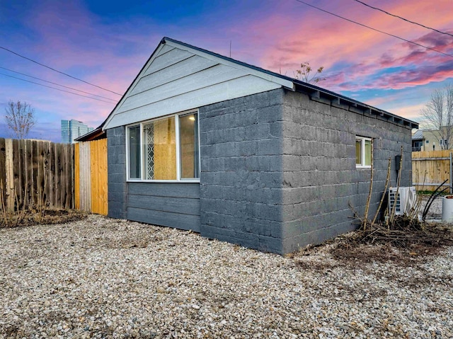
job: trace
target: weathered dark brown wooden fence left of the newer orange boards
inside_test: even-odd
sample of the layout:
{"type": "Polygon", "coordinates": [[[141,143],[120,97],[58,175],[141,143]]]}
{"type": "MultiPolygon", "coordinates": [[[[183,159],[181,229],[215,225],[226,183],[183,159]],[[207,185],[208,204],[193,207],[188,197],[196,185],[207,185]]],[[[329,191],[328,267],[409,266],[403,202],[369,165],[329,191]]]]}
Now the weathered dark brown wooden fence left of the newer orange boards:
{"type": "Polygon", "coordinates": [[[0,138],[0,207],[74,208],[74,146],[0,138]]]}

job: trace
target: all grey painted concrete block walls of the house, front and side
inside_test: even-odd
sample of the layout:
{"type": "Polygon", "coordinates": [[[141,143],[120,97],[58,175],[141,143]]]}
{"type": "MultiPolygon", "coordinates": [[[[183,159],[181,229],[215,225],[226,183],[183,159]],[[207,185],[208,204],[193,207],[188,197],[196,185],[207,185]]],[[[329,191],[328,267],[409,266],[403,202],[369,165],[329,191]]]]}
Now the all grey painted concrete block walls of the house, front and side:
{"type": "MultiPolygon", "coordinates": [[[[283,89],[199,108],[202,236],[289,253],[354,229],[349,204],[363,213],[370,176],[355,166],[356,135],[374,139],[370,217],[384,190],[388,159],[396,185],[401,146],[401,185],[410,185],[411,130],[351,110],[357,109],[283,89]]],[[[123,219],[125,127],[107,130],[107,137],[108,216],[123,219]]]]}

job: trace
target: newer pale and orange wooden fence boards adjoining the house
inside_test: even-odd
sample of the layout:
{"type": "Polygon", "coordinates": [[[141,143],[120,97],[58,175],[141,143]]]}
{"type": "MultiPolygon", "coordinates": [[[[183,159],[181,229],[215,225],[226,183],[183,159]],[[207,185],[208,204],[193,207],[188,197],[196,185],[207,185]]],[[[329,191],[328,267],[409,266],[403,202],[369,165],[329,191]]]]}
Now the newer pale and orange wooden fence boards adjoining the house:
{"type": "Polygon", "coordinates": [[[74,154],[76,209],[107,215],[107,139],[75,144],[74,154]]]}

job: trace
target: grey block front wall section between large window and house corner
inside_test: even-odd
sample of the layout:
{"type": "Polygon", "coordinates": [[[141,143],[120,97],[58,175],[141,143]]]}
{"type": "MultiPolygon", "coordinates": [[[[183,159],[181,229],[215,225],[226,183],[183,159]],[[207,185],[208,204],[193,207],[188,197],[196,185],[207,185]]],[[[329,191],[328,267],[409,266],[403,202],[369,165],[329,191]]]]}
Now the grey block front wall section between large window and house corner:
{"type": "Polygon", "coordinates": [[[199,109],[202,236],[281,253],[283,94],[199,109]]]}

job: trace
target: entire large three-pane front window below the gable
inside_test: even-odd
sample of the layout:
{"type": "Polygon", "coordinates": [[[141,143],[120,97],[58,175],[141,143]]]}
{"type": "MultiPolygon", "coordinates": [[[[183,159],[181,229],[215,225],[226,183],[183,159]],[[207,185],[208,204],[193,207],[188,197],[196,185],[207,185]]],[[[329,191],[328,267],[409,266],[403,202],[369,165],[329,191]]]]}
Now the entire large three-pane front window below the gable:
{"type": "Polygon", "coordinates": [[[127,142],[130,180],[200,178],[197,113],[127,127],[127,142]]]}

